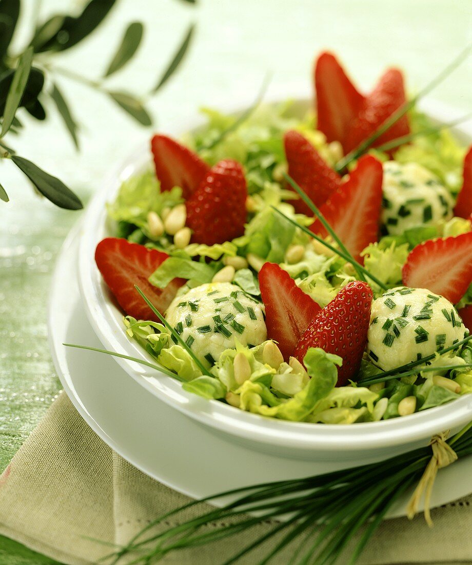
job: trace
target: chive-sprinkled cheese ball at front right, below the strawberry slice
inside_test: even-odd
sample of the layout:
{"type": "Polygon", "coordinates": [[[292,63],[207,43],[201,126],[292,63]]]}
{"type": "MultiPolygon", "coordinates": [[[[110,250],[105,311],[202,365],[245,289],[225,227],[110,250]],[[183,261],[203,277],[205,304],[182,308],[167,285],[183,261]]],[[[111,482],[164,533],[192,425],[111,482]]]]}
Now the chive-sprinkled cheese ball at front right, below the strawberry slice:
{"type": "Polygon", "coordinates": [[[422,359],[465,337],[456,308],[424,288],[399,286],[372,303],[369,359],[384,371],[422,359]]]}

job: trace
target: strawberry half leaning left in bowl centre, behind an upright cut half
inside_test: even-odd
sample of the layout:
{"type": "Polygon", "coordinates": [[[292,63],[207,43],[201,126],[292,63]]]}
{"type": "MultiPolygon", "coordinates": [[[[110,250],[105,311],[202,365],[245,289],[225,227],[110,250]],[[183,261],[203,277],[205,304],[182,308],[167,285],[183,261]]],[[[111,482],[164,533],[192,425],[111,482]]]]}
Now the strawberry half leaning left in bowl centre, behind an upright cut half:
{"type": "MultiPolygon", "coordinates": [[[[290,130],[283,137],[283,142],[289,164],[289,176],[300,185],[316,206],[320,206],[338,188],[341,177],[328,166],[301,133],[290,130]]],[[[301,199],[292,203],[299,214],[313,215],[301,199]]]]}

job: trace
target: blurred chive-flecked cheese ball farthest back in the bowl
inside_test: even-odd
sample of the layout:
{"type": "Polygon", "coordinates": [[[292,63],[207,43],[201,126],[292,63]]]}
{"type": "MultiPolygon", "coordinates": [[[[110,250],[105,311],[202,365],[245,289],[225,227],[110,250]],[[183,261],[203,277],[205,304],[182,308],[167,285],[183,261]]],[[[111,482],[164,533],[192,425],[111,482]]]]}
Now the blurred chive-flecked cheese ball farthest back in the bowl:
{"type": "Polygon", "coordinates": [[[393,236],[452,218],[454,200],[438,177],[417,163],[383,163],[382,223],[393,236]]]}

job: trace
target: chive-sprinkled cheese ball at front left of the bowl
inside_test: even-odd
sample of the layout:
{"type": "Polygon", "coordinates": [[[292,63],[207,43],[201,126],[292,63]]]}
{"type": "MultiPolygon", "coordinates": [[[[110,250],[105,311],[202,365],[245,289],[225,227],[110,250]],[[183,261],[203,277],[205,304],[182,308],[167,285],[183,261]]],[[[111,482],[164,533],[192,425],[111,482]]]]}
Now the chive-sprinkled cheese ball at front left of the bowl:
{"type": "Polygon", "coordinates": [[[210,282],[176,297],[165,319],[202,362],[211,366],[235,341],[259,345],[267,339],[263,304],[230,282],[210,282]]]}

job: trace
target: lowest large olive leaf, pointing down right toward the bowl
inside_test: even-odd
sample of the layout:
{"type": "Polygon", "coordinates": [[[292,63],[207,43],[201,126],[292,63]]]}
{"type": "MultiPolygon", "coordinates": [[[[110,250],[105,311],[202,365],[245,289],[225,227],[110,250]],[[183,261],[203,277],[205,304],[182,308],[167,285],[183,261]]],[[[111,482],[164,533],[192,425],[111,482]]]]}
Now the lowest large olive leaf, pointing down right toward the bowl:
{"type": "Polygon", "coordinates": [[[28,159],[11,155],[11,160],[36,186],[39,192],[53,204],[67,210],[80,210],[82,208],[80,199],[62,181],[49,175],[28,159]]]}

